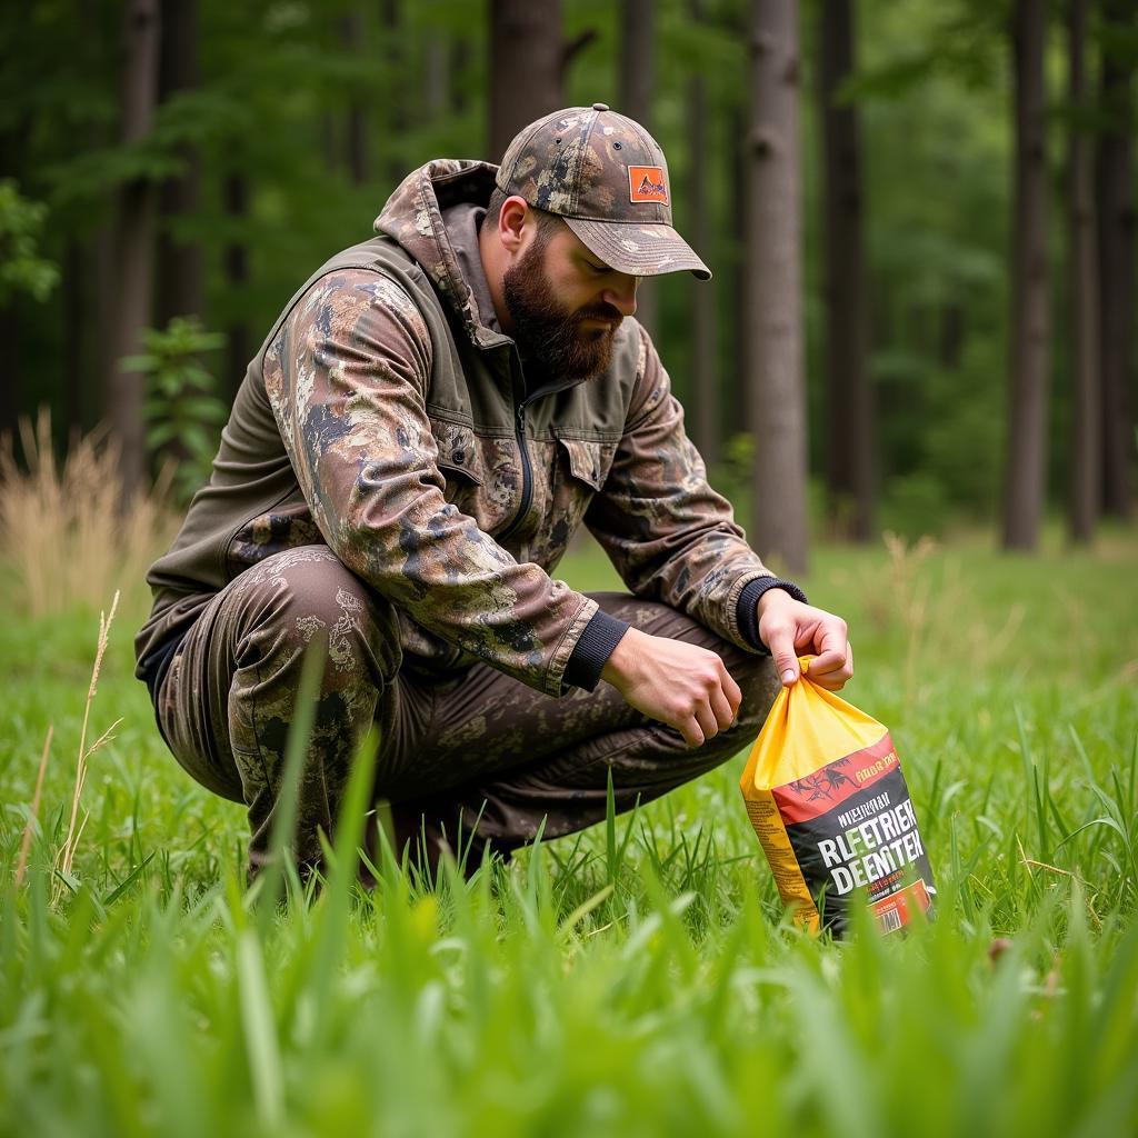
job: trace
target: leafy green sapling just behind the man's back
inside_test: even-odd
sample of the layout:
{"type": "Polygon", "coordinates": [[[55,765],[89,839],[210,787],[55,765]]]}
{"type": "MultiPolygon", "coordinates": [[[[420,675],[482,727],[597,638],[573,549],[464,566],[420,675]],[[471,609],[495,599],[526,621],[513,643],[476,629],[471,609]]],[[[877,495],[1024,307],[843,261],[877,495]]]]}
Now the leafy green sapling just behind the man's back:
{"type": "Polygon", "coordinates": [[[122,366],[146,374],[147,446],[176,457],[173,488],[181,501],[189,501],[208,480],[229,414],[200,356],[224,346],[225,337],[206,331],[197,316],[175,316],[163,330],[147,329],[142,343],[146,353],[127,356],[122,366]]]}

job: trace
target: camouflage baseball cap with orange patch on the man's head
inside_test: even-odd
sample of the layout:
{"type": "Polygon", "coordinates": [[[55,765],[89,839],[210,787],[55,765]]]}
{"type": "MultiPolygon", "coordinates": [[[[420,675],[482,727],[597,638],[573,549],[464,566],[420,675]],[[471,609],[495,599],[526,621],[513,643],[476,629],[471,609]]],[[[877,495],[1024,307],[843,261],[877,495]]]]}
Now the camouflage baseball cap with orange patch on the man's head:
{"type": "Polygon", "coordinates": [[[563,217],[605,264],[634,277],[711,271],[671,225],[663,151],[640,123],[603,102],[530,123],[497,172],[504,193],[563,217]]]}

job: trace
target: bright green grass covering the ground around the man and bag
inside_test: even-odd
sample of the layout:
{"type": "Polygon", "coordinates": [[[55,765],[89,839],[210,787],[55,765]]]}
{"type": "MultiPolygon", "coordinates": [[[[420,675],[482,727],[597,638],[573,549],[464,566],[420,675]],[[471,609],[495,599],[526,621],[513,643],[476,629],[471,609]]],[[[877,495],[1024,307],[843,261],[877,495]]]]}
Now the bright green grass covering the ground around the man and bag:
{"type": "MultiPolygon", "coordinates": [[[[1132,534],[818,552],[805,585],[849,620],[846,694],[892,731],[940,887],[931,926],[844,945],[785,922],[743,754],[469,884],[385,861],[362,894],[346,831],[319,899],[257,907],[241,810],[181,774],[131,678],[137,592],[63,883],[98,615],[0,602],[0,1132],[1133,1133],[1136,566],[1132,534]]],[[[615,584],[595,551],[562,570],[615,584]]]]}

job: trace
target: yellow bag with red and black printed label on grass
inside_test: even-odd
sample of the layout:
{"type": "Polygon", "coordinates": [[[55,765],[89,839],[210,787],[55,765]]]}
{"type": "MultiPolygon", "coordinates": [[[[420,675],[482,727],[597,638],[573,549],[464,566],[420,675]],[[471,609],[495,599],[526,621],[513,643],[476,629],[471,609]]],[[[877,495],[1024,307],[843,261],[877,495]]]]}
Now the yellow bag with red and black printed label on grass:
{"type": "Polygon", "coordinates": [[[905,775],[889,731],[813,683],[810,659],[751,749],[747,813],[799,924],[842,937],[864,897],[894,932],[931,917],[937,893],[905,775]]]}

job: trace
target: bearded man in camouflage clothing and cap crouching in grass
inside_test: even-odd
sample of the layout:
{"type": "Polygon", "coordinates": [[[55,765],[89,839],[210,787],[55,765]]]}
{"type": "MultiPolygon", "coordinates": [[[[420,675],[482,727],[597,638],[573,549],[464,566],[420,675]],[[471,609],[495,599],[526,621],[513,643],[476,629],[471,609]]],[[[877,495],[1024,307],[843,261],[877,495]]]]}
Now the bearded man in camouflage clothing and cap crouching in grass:
{"type": "Polygon", "coordinates": [[[434,859],[477,819],[477,864],[604,817],[610,770],[622,810],[735,754],[797,651],[827,687],[852,673],[844,622],[707,484],[632,319],[641,277],[710,277],[643,127],[549,115],[501,166],[411,173],[376,231],[281,313],[148,577],[138,675],[179,762],[248,808],[250,874],[310,644],[304,867],[372,724],[397,842],[434,859]],[[582,521],[630,595],[550,576],[582,521]]]}

